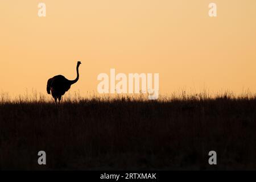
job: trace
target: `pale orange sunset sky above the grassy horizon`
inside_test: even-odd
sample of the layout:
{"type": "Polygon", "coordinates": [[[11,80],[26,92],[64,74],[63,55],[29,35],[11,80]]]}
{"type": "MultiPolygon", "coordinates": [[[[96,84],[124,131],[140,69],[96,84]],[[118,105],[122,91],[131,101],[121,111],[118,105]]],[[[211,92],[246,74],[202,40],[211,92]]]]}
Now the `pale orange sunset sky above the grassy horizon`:
{"type": "Polygon", "coordinates": [[[46,93],[48,78],[76,77],[71,91],[97,92],[97,76],[159,73],[160,94],[256,92],[255,0],[1,0],[0,91],[46,93]],[[46,17],[38,3],[46,3],[46,17]],[[217,4],[217,17],[208,15],[217,4]]]}

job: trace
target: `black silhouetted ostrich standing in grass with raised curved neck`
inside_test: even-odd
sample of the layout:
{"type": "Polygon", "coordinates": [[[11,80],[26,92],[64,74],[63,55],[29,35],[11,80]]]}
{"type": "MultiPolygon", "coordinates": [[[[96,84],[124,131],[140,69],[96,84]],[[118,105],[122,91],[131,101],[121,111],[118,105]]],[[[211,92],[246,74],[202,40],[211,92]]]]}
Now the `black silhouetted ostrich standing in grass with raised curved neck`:
{"type": "Polygon", "coordinates": [[[57,75],[52,78],[49,78],[47,81],[47,93],[52,94],[52,97],[55,100],[55,103],[57,104],[57,99],[61,100],[61,96],[67,92],[72,84],[75,84],[79,80],[79,66],[82,64],[80,61],[77,61],[76,65],[76,79],[75,80],[68,80],[62,75],[57,75]]]}

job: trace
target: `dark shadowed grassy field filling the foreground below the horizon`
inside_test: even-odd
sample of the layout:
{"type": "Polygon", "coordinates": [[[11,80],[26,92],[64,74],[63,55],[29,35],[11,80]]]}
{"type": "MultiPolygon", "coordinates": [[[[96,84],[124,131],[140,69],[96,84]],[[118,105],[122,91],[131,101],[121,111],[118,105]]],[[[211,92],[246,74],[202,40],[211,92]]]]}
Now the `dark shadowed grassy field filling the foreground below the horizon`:
{"type": "Polygon", "coordinates": [[[256,98],[2,103],[0,135],[0,169],[256,169],[256,98]]]}

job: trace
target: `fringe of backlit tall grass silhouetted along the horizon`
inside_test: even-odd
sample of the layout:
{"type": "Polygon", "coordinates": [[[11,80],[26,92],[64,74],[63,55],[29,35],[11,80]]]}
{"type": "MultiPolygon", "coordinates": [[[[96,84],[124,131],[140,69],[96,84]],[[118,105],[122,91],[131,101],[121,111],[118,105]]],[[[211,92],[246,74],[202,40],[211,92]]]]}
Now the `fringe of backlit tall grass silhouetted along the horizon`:
{"type": "MultiPolygon", "coordinates": [[[[229,99],[229,100],[254,100],[256,98],[256,93],[246,90],[241,94],[234,94],[230,91],[209,93],[209,91],[204,90],[200,93],[187,93],[185,91],[174,92],[168,95],[160,95],[157,100],[148,100],[148,94],[96,94],[86,93],[81,96],[79,91],[67,92],[61,100],[62,102],[72,102],[78,103],[80,101],[142,101],[142,102],[171,102],[171,101],[203,101],[203,100],[216,100],[216,99],[229,99]]],[[[52,96],[46,93],[37,92],[32,89],[30,92],[26,90],[23,94],[18,96],[10,96],[7,92],[0,92],[0,104],[19,104],[19,103],[54,103],[52,96]]]]}

